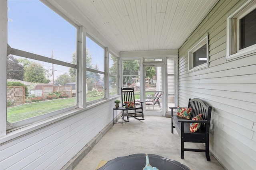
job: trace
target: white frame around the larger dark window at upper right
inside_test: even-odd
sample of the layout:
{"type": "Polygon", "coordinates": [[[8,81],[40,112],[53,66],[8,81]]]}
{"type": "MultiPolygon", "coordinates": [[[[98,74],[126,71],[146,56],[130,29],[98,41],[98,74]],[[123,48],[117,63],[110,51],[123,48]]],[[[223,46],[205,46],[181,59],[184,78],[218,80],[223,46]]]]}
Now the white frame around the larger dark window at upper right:
{"type": "Polygon", "coordinates": [[[248,0],[227,17],[226,61],[256,53],[256,44],[240,49],[240,19],[252,12],[255,8],[256,0],[248,0]],[[234,35],[232,33],[232,28],[235,29],[235,31],[233,31],[234,35]],[[232,43],[236,49],[232,50],[232,43]]]}

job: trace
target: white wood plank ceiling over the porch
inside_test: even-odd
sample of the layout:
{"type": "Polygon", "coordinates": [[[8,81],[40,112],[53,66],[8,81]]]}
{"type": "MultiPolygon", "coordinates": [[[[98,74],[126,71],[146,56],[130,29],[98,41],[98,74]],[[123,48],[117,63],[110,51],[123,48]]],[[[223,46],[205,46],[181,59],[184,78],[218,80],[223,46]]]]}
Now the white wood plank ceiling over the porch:
{"type": "Polygon", "coordinates": [[[217,1],[74,0],[72,3],[119,51],[146,51],[178,49],[217,1]]]}

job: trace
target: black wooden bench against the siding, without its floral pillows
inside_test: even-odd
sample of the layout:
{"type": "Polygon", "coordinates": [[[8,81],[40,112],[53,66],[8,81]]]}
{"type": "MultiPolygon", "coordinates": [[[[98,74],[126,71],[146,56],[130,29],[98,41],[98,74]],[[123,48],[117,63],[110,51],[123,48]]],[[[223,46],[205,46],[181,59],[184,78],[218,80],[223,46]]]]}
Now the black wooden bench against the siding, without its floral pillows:
{"type": "Polygon", "coordinates": [[[207,106],[198,98],[189,99],[188,108],[191,108],[191,118],[181,118],[173,114],[173,110],[177,107],[170,107],[172,109],[172,133],[175,128],[181,138],[181,158],[184,159],[184,151],[205,152],[207,161],[210,160],[209,155],[209,130],[212,107],[207,106]],[[202,120],[191,120],[196,115],[202,114],[202,120]],[[190,132],[190,123],[202,123],[198,131],[190,132]],[[184,142],[205,143],[205,149],[191,149],[184,148],[184,142]]]}

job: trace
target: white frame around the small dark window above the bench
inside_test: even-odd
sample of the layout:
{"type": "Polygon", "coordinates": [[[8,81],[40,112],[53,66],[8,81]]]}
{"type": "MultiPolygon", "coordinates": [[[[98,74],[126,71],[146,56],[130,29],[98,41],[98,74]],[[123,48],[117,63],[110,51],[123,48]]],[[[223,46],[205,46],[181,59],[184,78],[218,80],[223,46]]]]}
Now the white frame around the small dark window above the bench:
{"type": "Polygon", "coordinates": [[[208,33],[206,36],[201,39],[192,49],[188,51],[188,72],[200,70],[202,68],[209,66],[209,40],[208,40],[208,33]],[[198,66],[193,66],[193,53],[206,45],[206,63],[200,64],[198,66]]]}

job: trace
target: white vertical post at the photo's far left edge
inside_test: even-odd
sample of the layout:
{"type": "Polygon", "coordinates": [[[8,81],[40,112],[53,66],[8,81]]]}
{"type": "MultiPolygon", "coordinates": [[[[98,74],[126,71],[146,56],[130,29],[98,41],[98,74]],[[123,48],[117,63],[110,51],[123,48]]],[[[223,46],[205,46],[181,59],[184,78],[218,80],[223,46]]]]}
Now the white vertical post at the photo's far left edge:
{"type": "Polygon", "coordinates": [[[7,120],[7,0],[0,1],[0,137],[6,135],[7,120]]]}

